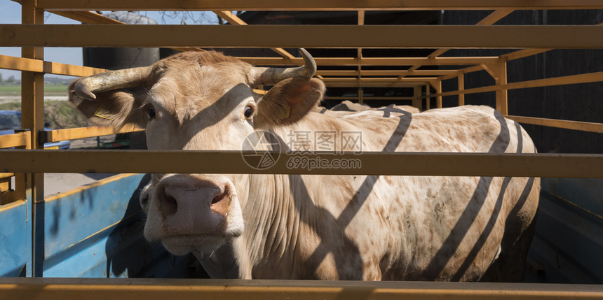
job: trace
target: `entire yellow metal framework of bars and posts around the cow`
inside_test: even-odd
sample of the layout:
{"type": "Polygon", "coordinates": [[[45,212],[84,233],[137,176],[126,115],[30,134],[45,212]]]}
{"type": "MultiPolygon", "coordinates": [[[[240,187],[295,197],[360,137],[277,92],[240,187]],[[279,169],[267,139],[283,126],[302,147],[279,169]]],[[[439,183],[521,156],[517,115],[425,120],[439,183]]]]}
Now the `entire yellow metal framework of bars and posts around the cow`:
{"type": "MultiPolygon", "coordinates": [[[[327,87],[358,87],[360,102],[381,100],[365,97],[363,87],[411,87],[414,97],[386,99],[412,100],[413,106],[431,108],[442,106],[442,97],[457,95],[459,106],[464,95],[495,92],[496,108],[510,119],[526,124],[560,127],[603,133],[603,124],[550,120],[508,115],[508,90],[551,85],[595,83],[603,81],[603,72],[578,74],[559,78],[544,78],[522,83],[507,82],[506,63],[555,48],[603,48],[601,24],[586,26],[496,26],[514,10],[603,9],[600,0],[307,0],[307,1],[191,1],[191,0],[21,0],[22,24],[3,24],[0,46],[21,46],[22,57],[0,55],[0,69],[22,71],[22,126],[29,131],[0,136],[0,148],[16,147],[25,150],[2,150],[0,155],[0,187],[6,187],[6,178],[15,175],[16,187],[10,201],[32,201],[32,217],[43,220],[43,211],[37,212],[36,203],[44,201],[43,173],[51,172],[179,172],[198,173],[261,173],[242,163],[239,152],[161,152],[161,151],[43,151],[43,143],[115,133],[112,129],[90,127],[43,132],[43,74],[90,76],[103,69],[72,66],[44,61],[43,48],[48,46],[171,46],[176,50],[203,51],[203,47],[257,47],[271,48],[280,57],[239,57],[258,65],[300,65],[301,58],[283,50],[285,47],[355,48],[355,57],[315,57],[317,76],[327,87]],[[212,10],[231,24],[209,25],[126,25],[90,10],[212,10]],[[230,13],[231,10],[354,10],[358,24],[351,26],[245,26],[245,22],[230,13]],[[473,26],[369,26],[364,24],[365,10],[494,10],[473,26]],[[43,12],[86,23],[82,25],[43,24],[43,12]],[[153,26],[153,30],[148,30],[153,26]],[[282,34],[287,32],[287,34],[282,34]],[[317,34],[319,32],[320,34],[317,34]],[[168,34],[169,33],[169,34],[168,34]],[[187,36],[211,38],[199,41],[187,36]],[[105,38],[98,39],[101,35],[105,38]],[[152,35],[152,36],[151,36],[152,35]],[[383,38],[395,35],[397,38],[383,38]],[[433,38],[433,36],[438,38],[433,38]],[[253,38],[250,38],[253,36],[253,38]],[[332,36],[337,36],[334,39],[332,36]],[[482,36],[475,39],[473,36],[482,36]],[[177,47],[175,47],[177,46],[177,47]],[[201,47],[201,48],[200,48],[201,47]],[[427,57],[364,57],[363,48],[436,48],[427,57]],[[440,57],[450,48],[519,48],[499,57],[440,57]],[[460,66],[454,70],[419,70],[421,66],[460,66]],[[322,70],[321,66],[347,66],[348,69],[322,70]],[[353,70],[349,66],[355,67],[353,70]],[[370,70],[365,66],[372,66],[370,70]],[[407,70],[391,71],[376,66],[410,66],[407,70]],[[495,84],[475,89],[464,88],[467,73],[487,71],[495,84]],[[442,91],[442,81],[456,80],[458,90],[442,91]],[[435,90],[435,93],[431,92],[435,90]],[[425,93],[425,95],[423,95],[425,93]],[[165,159],[169,155],[169,159],[165,159]],[[152,161],[149,165],[146,162],[152,161]],[[189,162],[208,162],[204,169],[189,162]],[[108,164],[107,162],[111,162],[108,164]],[[117,162],[117,163],[115,163],[117,162]],[[165,162],[165,163],[163,163],[165,162]],[[169,164],[167,163],[169,162],[169,164]],[[219,167],[214,162],[220,162],[219,167]],[[224,164],[224,162],[228,162],[224,164]]],[[[349,98],[348,98],[349,99],[349,98]]],[[[125,129],[120,132],[133,131],[125,129]]],[[[343,155],[339,158],[360,158],[358,170],[290,170],[277,164],[271,173],[363,173],[379,175],[449,175],[449,176],[542,176],[603,178],[603,155],[487,155],[450,153],[365,153],[361,156],[343,155]],[[405,168],[392,170],[392,164],[405,168]]],[[[3,194],[3,204],[6,194],[3,194]]],[[[11,206],[11,204],[8,204],[11,206]]],[[[2,206],[0,209],[7,208],[2,206]]],[[[32,236],[36,236],[33,227],[32,236]]],[[[34,238],[35,240],[35,238],[34,238]]],[[[36,248],[39,245],[32,245],[36,248]]],[[[34,261],[32,264],[39,264],[34,261]]],[[[36,268],[34,267],[34,270],[36,268]]],[[[40,269],[40,268],[37,268],[40,269]]],[[[41,273],[29,274],[39,276],[41,273]]],[[[0,299],[15,297],[77,297],[86,292],[90,299],[123,297],[132,293],[149,299],[198,297],[198,292],[216,297],[350,297],[386,299],[407,297],[424,299],[426,296],[447,299],[482,297],[524,298],[601,298],[600,285],[504,285],[468,283],[332,283],[291,281],[239,280],[87,280],[47,278],[0,278],[0,299]],[[169,294],[168,294],[169,293],[169,294]],[[168,296],[169,295],[169,296],[168,296]]]]}

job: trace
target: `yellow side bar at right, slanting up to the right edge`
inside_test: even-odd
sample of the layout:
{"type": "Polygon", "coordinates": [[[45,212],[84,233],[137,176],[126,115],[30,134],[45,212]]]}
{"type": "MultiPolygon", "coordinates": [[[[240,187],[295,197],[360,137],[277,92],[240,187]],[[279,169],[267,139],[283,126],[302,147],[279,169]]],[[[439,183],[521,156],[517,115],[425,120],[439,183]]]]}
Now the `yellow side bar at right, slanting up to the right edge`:
{"type": "MultiPolygon", "coordinates": [[[[603,81],[603,72],[585,73],[579,75],[545,78],[538,80],[522,81],[520,83],[507,83],[506,85],[492,85],[489,87],[477,87],[463,91],[442,92],[433,96],[452,96],[457,94],[475,94],[482,92],[495,92],[498,90],[515,90],[528,87],[550,87],[552,85],[573,85],[576,83],[596,83],[603,81]]],[[[423,98],[426,98],[425,96],[423,98]]]]}

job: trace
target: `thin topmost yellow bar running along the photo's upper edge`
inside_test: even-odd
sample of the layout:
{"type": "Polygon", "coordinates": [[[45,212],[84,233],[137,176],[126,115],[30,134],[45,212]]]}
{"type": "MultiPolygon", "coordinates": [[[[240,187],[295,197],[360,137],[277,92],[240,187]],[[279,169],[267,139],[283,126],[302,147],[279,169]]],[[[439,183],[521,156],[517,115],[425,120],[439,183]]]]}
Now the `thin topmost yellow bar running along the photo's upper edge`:
{"type": "Polygon", "coordinates": [[[39,0],[38,6],[45,10],[540,10],[540,9],[601,9],[603,4],[597,0],[306,0],[306,1],[270,1],[270,0],[39,0]]]}

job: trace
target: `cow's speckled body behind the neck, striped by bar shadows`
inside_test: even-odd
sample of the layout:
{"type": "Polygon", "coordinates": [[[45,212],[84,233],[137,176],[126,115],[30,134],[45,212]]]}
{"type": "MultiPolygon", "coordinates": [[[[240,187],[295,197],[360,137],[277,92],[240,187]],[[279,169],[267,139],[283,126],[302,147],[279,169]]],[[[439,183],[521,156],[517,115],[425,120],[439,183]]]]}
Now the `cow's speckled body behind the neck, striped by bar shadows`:
{"type": "MultiPolygon", "coordinates": [[[[535,152],[519,124],[482,106],[344,122],[352,124],[344,130],[363,132],[363,151],[535,152]]],[[[292,193],[278,201],[293,203],[299,218],[294,252],[286,255],[296,257],[287,259],[292,278],[479,280],[505,255],[523,255],[515,259],[523,261],[527,248],[515,250],[514,244],[526,239],[521,236],[534,219],[539,191],[538,178],[304,175],[280,180],[292,193]]],[[[263,252],[270,256],[269,250],[263,252]]],[[[282,262],[279,254],[262,260],[255,277],[270,278],[274,262],[282,262]]]]}

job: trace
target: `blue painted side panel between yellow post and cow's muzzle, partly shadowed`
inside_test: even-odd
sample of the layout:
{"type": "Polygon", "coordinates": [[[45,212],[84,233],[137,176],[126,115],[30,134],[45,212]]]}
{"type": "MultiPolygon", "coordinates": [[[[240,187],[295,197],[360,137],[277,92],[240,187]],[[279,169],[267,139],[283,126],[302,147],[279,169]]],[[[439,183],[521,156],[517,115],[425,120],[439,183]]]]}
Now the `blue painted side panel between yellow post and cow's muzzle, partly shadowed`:
{"type": "Polygon", "coordinates": [[[137,191],[149,176],[107,180],[46,202],[43,276],[207,278],[192,255],[144,240],[137,191]]]}

